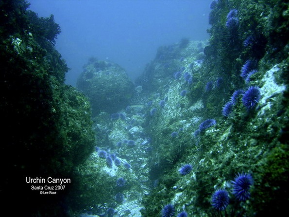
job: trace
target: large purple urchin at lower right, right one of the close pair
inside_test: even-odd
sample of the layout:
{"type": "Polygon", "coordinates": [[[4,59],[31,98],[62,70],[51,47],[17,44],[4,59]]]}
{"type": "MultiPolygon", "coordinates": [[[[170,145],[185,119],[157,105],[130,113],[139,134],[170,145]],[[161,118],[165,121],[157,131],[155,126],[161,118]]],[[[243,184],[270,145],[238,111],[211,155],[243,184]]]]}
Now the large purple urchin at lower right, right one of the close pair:
{"type": "Polygon", "coordinates": [[[253,178],[250,174],[238,174],[232,184],[233,194],[239,201],[246,201],[250,198],[250,188],[253,185],[253,178]]]}

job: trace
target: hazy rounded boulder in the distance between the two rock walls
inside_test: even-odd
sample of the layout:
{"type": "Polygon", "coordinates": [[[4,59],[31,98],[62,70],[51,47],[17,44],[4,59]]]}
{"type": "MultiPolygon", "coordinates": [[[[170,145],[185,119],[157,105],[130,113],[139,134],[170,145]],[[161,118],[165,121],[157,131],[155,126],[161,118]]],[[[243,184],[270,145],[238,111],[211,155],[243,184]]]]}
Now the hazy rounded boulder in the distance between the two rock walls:
{"type": "Polygon", "coordinates": [[[134,85],[123,68],[94,59],[85,66],[77,87],[90,99],[93,115],[126,107],[134,92],[134,85]]]}

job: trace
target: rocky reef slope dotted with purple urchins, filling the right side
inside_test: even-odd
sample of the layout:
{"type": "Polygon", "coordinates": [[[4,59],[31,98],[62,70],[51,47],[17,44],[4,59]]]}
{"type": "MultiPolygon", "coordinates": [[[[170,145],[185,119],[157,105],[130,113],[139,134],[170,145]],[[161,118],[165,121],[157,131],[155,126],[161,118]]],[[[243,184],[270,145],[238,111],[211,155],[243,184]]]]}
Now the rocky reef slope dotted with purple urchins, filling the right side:
{"type": "Polygon", "coordinates": [[[208,41],[160,47],[130,104],[94,117],[99,140],[86,163],[113,187],[98,181],[107,198],[91,196],[99,202],[92,214],[263,216],[286,209],[288,4],[219,0],[211,9],[208,41]]]}

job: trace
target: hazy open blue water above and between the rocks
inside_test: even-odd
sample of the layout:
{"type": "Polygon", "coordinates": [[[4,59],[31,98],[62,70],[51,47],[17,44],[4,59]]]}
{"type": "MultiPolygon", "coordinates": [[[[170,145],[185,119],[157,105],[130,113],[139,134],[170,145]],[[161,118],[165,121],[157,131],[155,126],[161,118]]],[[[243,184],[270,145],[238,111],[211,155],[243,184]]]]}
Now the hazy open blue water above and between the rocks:
{"type": "Polygon", "coordinates": [[[187,37],[208,38],[212,0],[28,0],[40,17],[54,15],[61,27],[56,49],[75,86],[89,57],[110,60],[134,80],[157,48],[187,37]]]}

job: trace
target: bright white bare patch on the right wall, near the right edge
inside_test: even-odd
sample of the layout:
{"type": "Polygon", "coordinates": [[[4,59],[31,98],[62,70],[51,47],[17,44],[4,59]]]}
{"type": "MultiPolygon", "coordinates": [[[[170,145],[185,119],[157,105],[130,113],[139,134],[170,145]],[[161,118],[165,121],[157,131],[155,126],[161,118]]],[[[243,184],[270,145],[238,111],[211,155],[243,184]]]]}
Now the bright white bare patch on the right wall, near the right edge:
{"type": "Polygon", "coordinates": [[[275,65],[271,70],[267,71],[262,78],[264,85],[260,89],[262,98],[259,101],[259,105],[262,107],[262,109],[258,112],[258,115],[263,115],[266,110],[271,109],[271,102],[268,100],[269,98],[283,92],[286,89],[285,85],[277,85],[275,83],[274,73],[278,71],[278,65],[275,65]]]}

